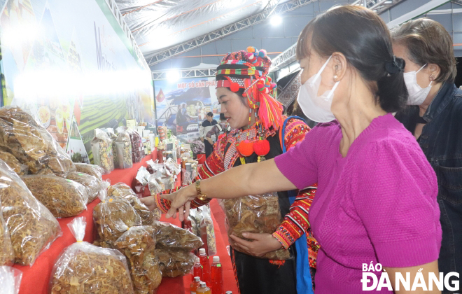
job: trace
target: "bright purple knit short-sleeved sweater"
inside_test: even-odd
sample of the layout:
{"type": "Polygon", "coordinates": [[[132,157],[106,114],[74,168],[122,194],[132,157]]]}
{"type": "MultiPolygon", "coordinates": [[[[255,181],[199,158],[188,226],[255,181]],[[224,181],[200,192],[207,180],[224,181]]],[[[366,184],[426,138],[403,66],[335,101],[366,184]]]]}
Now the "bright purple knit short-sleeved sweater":
{"type": "Polygon", "coordinates": [[[309,211],[321,245],[316,294],[362,293],[363,263],[412,267],[440,253],[437,179],[412,134],[387,114],[372,120],[345,158],[341,139],[339,123],[320,124],[275,158],[298,189],[318,183],[309,211]]]}

